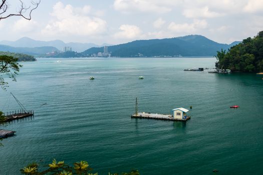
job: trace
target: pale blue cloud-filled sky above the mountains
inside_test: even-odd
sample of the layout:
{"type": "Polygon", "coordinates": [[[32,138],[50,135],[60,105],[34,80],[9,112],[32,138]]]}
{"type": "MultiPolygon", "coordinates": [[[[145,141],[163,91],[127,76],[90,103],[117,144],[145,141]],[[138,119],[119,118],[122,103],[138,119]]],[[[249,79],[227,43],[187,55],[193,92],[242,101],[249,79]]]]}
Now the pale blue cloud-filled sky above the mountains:
{"type": "MultiPolygon", "coordinates": [[[[30,0],[24,0],[30,5],[30,0]]],[[[18,8],[9,0],[7,12],[18,8]]],[[[25,12],[25,15],[28,15],[25,12]]],[[[0,40],[119,44],[201,34],[219,43],[263,30],[263,0],[42,0],[32,20],[0,20],[0,40]]]]}

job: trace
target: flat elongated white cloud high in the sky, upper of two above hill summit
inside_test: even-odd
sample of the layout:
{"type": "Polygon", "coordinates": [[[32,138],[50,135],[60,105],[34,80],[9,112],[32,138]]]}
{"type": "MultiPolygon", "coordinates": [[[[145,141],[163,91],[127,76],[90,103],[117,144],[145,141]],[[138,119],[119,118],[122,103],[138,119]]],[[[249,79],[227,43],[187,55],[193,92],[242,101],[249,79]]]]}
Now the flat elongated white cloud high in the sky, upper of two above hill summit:
{"type": "Polygon", "coordinates": [[[183,11],[183,15],[188,18],[196,18],[196,17],[218,17],[223,15],[223,13],[218,13],[214,11],[210,11],[208,6],[203,8],[191,8],[185,9],[183,11]]]}

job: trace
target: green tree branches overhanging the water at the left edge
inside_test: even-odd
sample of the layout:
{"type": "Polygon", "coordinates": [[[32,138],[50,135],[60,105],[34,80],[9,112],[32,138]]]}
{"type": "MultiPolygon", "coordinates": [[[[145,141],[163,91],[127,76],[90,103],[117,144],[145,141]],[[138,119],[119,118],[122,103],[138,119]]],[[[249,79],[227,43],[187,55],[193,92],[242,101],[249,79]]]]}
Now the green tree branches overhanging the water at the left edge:
{"type": "Polygon", "coordinates": [[[5,81],[4,75],[10,77],[13,81],[16,81],[16,75],[18,74],[20,65],[18,58],[8,55],[0,55],[0,85],[6,90],[8,87],[8,82],[5,81]]]}

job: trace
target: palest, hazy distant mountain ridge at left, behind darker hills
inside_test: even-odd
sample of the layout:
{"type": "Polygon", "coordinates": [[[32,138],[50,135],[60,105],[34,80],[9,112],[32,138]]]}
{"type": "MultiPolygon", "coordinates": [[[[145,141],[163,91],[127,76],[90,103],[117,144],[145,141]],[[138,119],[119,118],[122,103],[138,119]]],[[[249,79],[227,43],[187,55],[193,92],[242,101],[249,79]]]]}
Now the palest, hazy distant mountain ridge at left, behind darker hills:
{"type": "MultiPolygon", "coordinates": [[[[51,40],[51,41],[42,41],[42,40],[35,40],[31,39],[29,37],[22,37],[16,41],[9,41],[9,40],[2,40],[0,41],[0,44],[3,45],[9,45],[12,47],[43,47],[43,46],[52,46],[56,47],[59,50],[63,50],[63,47],[65,46],[71,46],[72,50],[77,51],[77,52],[82,52],[88,48],[91,47],[99,47],[102,45],[97,45],[94,43],[80,43],[80,42],[69,42],[65,43],[62,40],[51,40]]],[[[103,44],[104,45],[111,45],[111,44],[103,44]]]]}

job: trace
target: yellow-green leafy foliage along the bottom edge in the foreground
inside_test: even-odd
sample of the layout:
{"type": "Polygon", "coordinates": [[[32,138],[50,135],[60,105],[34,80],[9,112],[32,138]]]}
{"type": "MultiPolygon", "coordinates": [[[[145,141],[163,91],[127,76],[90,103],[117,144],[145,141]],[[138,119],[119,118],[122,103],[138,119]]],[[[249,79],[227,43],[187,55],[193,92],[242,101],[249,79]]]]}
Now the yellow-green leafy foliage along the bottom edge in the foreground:
{"type": "MultiPolygon", "coordinates": [[[[55,158],[52,163],[45,166],[45,170],[39,171],[39,165],[37,163],[31,163],[24,168],[20,169],[22,174],[26,175],[98,175],[98,173],[90,172],[92,168],[89,167],[87,161],[78,161],[73,163],[73,167],[66,165],[64,161],[57,161],[55,158]],[[48,169],[47,169],[48,167],[48,169]]],[[[123,172],[122,175],[140,175],[138,170],[132,170],[131,172],[123,172]]],[[[118,173],[109,175],[118,175],[118,173]]]]}

